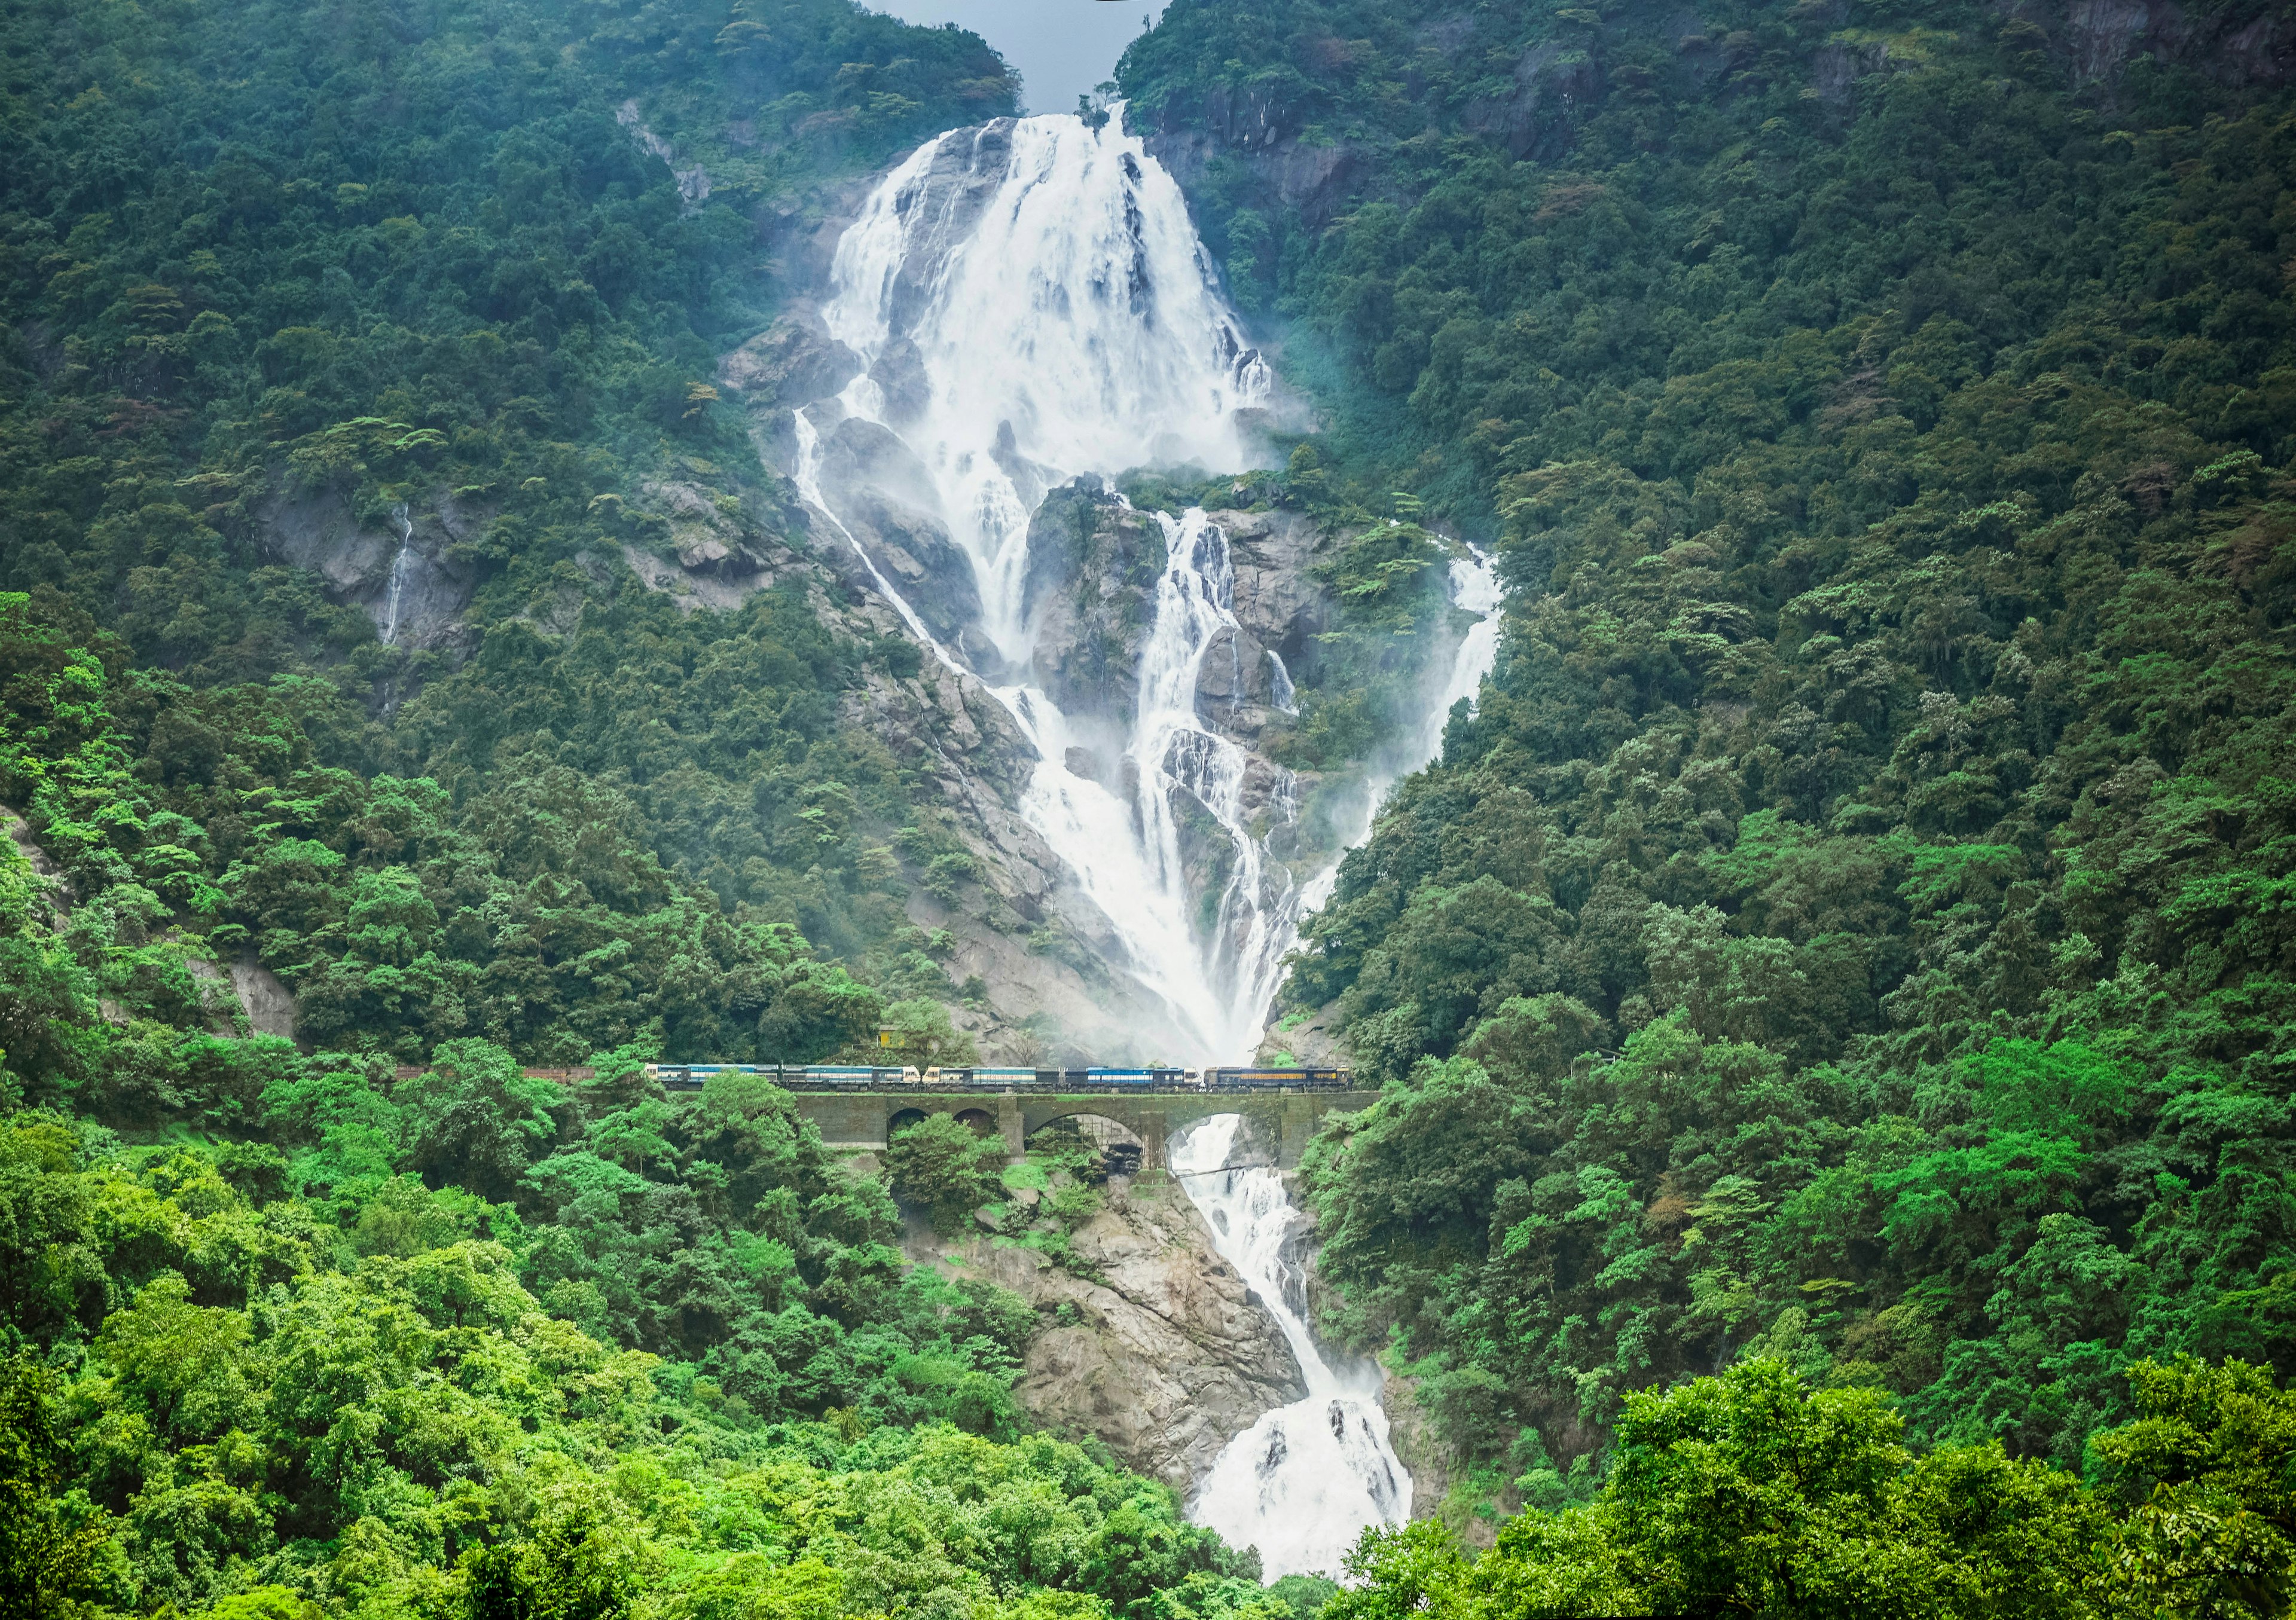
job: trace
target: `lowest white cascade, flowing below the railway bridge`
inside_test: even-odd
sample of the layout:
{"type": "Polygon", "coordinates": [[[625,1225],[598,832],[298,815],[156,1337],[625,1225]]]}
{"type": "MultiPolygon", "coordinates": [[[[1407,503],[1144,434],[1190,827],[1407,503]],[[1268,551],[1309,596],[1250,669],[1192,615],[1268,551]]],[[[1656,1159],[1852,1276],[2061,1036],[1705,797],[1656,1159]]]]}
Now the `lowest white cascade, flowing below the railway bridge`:
{"type": "Polygon", "coordinates": [[[1300,1358],[1306,1400],[1263,1413],[1212,1459],[1189,1514],[1235,1547],[1261,1549],[1261,1574],[1339,1574],[1373,1524],[1412,1512],[1412,1475],[1387,1441],[1380,1372],[1332,1361],[1306,1329],[1297,1262],[1300,1212],[1270,1168],[1235,1168],[1233,1113],[1199,1120],[1166,1145],[1166,1163],[1212,1228],[1212,1246],[1258,1292],[1300,1358]]]}

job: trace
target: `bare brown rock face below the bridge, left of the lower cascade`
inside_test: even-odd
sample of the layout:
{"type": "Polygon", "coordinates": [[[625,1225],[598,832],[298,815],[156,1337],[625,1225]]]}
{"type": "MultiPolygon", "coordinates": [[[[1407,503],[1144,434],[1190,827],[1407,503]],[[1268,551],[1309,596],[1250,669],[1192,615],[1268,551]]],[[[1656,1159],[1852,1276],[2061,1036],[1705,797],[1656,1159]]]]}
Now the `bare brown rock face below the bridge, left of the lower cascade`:
{"type": "Polygon", "coordinates": [[[1075,1326],[1029,1345],[1017,1395],[1035,1423],[1095,1434],[1187,1492],[1228,1439],[1306,1395],[1283,1335],[1171,1177],[1109,1182],[1107,1207],[1072,1244],[1102,1280],[994,1239],[951,1255],[1038,1308],[1070,1306],[1075,1326]]]}

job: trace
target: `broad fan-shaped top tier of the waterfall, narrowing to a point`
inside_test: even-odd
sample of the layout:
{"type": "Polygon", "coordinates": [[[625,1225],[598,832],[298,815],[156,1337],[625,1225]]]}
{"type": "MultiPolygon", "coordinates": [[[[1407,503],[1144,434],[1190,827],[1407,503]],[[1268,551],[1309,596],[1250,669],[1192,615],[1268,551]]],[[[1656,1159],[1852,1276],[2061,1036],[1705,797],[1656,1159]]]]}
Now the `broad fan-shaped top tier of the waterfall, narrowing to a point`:
{"type": "Polygon", "coordinates": [[[1274,379],[1120,108],[1100,128],[996,119],[918,147],[838,241],[831,282],[822,319],[863,367],[843,406],[914,452],[1003,659],[1026,659],[1047,489],[1258,454],[1274,379]]]}

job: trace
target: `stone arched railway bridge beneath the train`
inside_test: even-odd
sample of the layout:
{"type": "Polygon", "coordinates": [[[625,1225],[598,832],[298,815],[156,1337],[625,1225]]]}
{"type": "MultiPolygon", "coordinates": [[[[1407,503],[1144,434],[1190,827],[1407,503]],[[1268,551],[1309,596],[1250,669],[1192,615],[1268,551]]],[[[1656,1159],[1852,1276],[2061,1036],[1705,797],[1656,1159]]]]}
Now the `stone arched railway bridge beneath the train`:
{"type": "Polygon", "coordinates": [[[1141,1168],[1164,1168],[1164,1140],[1182,1124],[1215,1113],[1244,1115],[1254,1161],[1272,1156],[1277,1168],[1300,1168],[1309,1136],[1327,1113],[1355,1113],[1378,1101],[1378,1092],[792,1092],[797,1111],[820,1127],[831,1147],[882,1150],[900,1115],[953,1113],[967,1124],[994,1129],[1006,1152],[1019,1156],[1029,1138],[1056,1120],[1084,1113],[1114,1120],[1141,1145],[1141,1168]]]}

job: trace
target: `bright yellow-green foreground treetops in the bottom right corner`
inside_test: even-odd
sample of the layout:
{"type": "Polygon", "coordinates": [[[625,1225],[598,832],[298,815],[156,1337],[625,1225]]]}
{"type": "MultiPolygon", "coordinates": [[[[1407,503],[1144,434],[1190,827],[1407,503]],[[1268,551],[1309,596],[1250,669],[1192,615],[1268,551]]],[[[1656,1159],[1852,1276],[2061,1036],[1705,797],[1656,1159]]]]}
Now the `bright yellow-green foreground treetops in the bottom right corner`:
{"type": "Polygon", "coordinates": [[[2140,1363],[2135,1381],[2147,1416],[2099,1450],[2170,1473],[2209,1452],[2190,1496],[2133,1496],[2147,1464],[2092,1494],[1991,1441],[1913,1457],[1883,1393],[1809,1388],[1782,1361],[1639,1391],[1596,1501],[1529,1510],[1481,1558],[1440,1524],[1373,1531],[1362,1586],[1325,1613],[2280,1613],[2296,1549],[2266,1517],[2289,1501],[2289,1397],[2239,1361],[2140,1363]]]}

